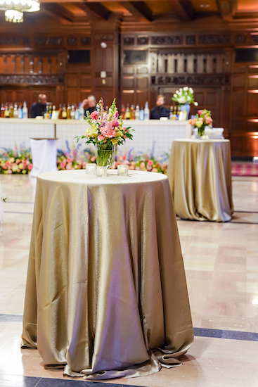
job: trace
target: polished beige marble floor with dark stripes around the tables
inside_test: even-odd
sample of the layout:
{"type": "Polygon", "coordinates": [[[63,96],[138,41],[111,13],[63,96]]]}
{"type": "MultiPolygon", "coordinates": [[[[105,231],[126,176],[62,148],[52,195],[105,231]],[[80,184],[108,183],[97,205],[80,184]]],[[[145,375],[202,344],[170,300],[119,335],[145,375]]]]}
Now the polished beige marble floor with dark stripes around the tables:
{"type": "MultiPolygon", "coordinates": [[[[35,182],[19,175],[0,179],[7,196],[0,234],[0,386],[93,386],[44,369],[37,350],[20,350],[35,182]]],[[[258,178],[234,177],[233,201],[230,223],[178,220],[195,327],[183,366],[105,386],[258,386],[258,178]]]]}

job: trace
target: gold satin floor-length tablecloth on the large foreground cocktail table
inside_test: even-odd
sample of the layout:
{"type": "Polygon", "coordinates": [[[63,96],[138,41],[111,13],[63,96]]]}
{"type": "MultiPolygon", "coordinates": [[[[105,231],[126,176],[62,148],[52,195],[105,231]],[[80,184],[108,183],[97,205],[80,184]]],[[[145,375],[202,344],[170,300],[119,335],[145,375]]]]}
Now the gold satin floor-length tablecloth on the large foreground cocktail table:
{"type": "Polygon", "coordinates": [[[141,376],[193,342],[167,177],[39,175],[23,348],[84,379],[141,376]]]}

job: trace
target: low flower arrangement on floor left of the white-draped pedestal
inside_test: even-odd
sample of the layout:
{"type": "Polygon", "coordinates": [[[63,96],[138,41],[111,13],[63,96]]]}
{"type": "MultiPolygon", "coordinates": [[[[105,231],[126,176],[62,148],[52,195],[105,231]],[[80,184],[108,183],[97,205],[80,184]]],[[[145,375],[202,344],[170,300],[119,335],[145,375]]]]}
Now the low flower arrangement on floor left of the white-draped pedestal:
{"type": "Polygon", "coordinates": [[[15,150],[3,148],[0,152],[0,173],[5,175],[22,174],[28,175],[32,170],[32,155],[30,149],[21,148],[18,151],[17,146],[15,150]]]}

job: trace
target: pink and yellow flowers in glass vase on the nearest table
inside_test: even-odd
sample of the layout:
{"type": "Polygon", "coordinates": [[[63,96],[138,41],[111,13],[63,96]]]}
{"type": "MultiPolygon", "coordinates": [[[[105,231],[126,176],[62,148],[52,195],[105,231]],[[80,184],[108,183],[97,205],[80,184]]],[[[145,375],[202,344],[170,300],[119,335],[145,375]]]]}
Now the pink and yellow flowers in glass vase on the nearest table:
{"type": "Polygon", "coordinates": [[[97,103],[97,111],[86,113],[86,121],[90,127],[86,129],[84,136],[79,139],[86,139],[86,144],[95,144],[97,147],[97,165],[112,167],[114,161],[114,146],[124,144],[126,139],[132,139],[130,127],[123,127],[122,116],[119,116],[115,99],[112,105],[105,112],[103,99],[97,103]]]}

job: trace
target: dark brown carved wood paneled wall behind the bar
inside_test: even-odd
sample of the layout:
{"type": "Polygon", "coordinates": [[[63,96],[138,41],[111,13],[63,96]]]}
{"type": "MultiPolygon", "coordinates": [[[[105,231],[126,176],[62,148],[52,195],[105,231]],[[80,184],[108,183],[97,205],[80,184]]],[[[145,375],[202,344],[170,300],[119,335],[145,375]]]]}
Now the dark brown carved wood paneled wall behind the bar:
{"type": "Polygon", "coordinates": [[[254,38],[247,30],[120,30],[117,21],[92,23],[84,34],[0,34],[0,103],[30,105],[44,92],[56,106],[94,94],[107,105],[115,96],[120,106],[149,101],[153,108],[157,94],[171,106],[174,91],[191,85],[198,108],[212,110],[214,126],[224,127],[233,155],[258,156],[258,61],[235,61],[238,47],[256,47],[254,38]],[[68,63],[68,51],[84,49],[90,63],[68,63]]]}

